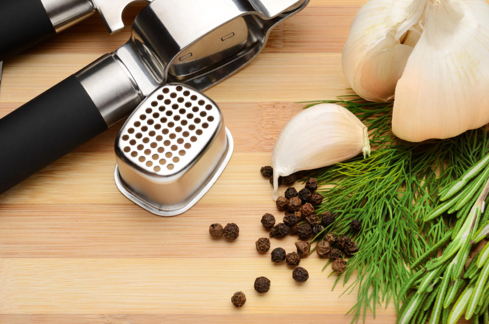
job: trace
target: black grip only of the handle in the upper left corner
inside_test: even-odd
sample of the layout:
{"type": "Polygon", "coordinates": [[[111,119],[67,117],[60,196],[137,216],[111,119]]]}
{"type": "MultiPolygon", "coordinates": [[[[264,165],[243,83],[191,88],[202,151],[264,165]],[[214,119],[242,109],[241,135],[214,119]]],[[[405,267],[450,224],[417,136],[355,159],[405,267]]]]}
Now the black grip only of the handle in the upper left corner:
{"type": "Polygon", "coordinates": [[[55,34],[41,0],[0,1],[0,61],[55,34]]]}

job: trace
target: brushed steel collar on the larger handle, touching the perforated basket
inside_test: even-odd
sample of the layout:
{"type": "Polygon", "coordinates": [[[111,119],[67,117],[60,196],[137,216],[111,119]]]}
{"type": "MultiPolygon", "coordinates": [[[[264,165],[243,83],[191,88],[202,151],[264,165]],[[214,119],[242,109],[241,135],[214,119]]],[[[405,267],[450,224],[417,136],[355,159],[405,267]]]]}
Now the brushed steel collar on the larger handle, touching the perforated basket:
{"type": "Polygon", "coordinates": [[[129,115],[144,99],[126,66],[115,54],[101,57],[75,75],[107,126],[129,115]]]}

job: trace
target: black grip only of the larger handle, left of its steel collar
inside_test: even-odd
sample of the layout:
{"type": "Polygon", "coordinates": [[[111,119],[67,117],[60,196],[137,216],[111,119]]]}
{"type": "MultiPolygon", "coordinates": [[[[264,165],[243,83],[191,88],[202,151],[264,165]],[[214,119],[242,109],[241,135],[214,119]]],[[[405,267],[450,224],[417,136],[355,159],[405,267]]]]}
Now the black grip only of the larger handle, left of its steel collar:
{"type": "Polygon", "coordinates": [[[0,194],[107,129],[76,76],[0,119],[0,194]]]}

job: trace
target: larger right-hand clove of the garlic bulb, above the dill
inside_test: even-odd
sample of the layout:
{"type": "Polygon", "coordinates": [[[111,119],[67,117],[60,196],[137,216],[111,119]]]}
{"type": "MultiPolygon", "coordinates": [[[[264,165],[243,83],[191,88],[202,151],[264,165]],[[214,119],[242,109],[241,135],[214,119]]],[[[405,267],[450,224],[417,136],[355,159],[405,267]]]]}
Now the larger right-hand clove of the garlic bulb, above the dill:
{"type": "Polygon", "coordinates": [[[489,123],[489,5],[429,0],[424,31],[395,91],[392,130],[446,139],[489,123]]]}

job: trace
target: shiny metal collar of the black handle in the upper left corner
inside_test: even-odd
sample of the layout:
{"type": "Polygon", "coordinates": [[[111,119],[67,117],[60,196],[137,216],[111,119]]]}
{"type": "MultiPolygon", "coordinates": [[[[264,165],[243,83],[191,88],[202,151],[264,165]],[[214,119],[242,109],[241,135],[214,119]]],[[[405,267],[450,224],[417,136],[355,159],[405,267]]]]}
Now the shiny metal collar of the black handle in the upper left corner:
{"type": "Polygon", "coordinates": [[[41,0],[41,3],[57,33],[95,13],[90,0],[41,0]]]}

